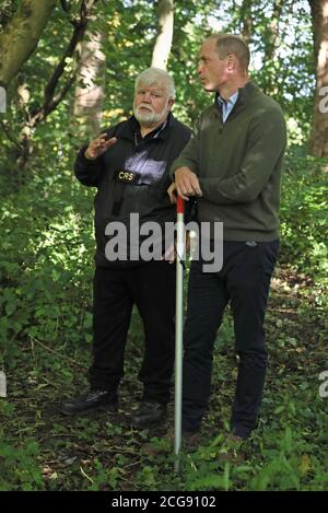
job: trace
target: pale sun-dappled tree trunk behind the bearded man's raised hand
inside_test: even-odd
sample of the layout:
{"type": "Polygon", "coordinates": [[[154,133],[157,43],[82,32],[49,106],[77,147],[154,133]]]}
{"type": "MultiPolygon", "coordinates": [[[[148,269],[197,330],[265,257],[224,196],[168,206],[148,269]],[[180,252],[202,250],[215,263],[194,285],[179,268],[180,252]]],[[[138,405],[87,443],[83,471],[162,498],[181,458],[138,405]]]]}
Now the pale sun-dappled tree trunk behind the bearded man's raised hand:
{"type": "Polygon", "coordinates": [[[75,88],[74,116],[83,118],[84,132],[99,132],[105,89],[106,57],[102,51],[104,34],[86,32],[82,43],[78,83],[75,88]]]}

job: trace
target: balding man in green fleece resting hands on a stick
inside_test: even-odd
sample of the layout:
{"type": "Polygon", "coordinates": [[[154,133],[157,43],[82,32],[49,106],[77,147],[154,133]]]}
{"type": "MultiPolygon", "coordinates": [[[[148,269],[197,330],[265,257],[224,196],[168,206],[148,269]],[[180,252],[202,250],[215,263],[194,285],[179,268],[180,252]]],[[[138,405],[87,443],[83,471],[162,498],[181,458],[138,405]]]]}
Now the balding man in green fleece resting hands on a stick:
{"type": "MultiPolygon", "coordinates": [[[[198,199],[198,221],[223,223],[223,265],[208,272],[191,263],[185,326],[183,435],[197,439],[207,409],[213,345],[231,304],[238,375],[231,440],[256,428],[266,375],[263,322],[270,278],[279,253],[280,174],[285,123],[280,106],[248,77],[249,49],[235,35],[215,34],[201,46],[198,72],[214,104],[172,167],[168,189],[198,199]]],[[[200,224],[201,225],[201,224],[200,224]]],[[[215,252],[218,241],[212,240],[215,252]]]]}

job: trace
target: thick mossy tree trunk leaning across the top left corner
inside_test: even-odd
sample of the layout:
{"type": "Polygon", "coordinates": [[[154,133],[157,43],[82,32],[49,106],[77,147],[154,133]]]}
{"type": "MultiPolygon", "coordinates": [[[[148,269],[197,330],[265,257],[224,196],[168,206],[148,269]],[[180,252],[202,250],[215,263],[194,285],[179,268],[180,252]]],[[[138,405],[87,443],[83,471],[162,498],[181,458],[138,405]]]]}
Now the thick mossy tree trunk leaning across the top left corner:
{"type": "Polygon", "coordinates": [[[8,88],[35,50],[56,0],[23,0],[0,35],[0,85],[8,88]]]}

